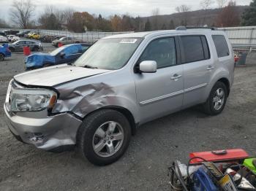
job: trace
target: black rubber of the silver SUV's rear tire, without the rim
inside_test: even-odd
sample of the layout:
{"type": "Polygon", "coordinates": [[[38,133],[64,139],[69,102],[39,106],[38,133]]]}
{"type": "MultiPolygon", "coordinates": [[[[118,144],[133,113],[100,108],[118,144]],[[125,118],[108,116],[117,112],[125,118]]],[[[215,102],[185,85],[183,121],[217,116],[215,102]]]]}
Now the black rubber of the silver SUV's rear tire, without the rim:
{"type": "Polygon", "coordinates": [[[203,104],[203,111],[206,114],[209,114],[209,115],[220,114],[223,111],[223,109],[225,108],[226,101],[227,101],[227,87],[226,87],[226,85],[223,82],[216,82],[214,87],[211,89],[211,93],[208,96],[208,99],[207,99],[206,103],[203,104]],[[224,99],[223,99],[222,106],[220,106],[219,109],[216,109],[214,107],[214,97],[216,96],[217,90],[219,90],[219,89],[223,90],[224,99]]]}

